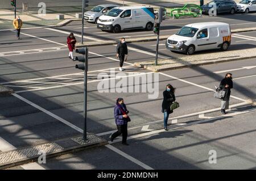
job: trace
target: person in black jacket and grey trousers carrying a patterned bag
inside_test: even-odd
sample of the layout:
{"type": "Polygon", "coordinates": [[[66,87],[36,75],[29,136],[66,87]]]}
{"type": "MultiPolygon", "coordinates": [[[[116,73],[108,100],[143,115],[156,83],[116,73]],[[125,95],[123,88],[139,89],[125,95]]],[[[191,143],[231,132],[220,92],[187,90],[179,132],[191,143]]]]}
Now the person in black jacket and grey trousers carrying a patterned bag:
{"type": "Polygon", "coordinates": [[[225,78],[220,83],[220,88],[225,91],[223,100],[221,100],[221,113],[226,114],[226,110],[229,108],[229,98],[231,89],[233,89],[232,74],[227,73],[225,78]]]}

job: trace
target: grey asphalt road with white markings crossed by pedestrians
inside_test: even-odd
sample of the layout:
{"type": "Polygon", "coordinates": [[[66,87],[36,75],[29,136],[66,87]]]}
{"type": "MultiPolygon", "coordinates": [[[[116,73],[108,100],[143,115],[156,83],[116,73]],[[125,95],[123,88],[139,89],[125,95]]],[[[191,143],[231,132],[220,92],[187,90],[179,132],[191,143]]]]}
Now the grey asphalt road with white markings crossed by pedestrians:
{"type": "MultiPolygon", "coordinates": [[[[180,19],[180,22],[185,20],[188,21],[180,19]]],[[[69,24],[62,29],[70,31],[77,27],[69,24]]],[[[14,32],[0,31],[0,83],[19,95],[0,98],[0,137],[16,148],[79,134],[56,116],[76,127],[83,127],[82,71],[75,69],[76,62],[68,58],[65,32],[53,30],[23,30],[22,40],[15,40],[14,32]],[[36,108],[35,104],[44,111],[36,108]],[[46,111],[56,116],[49,116],[46,111]]],[[[85,40],[89,39],[86,37],[85,40]]],[[[80,41],[80,37],[77,40],[80,41]]],[[[256,32],[237,33],[232,38],[230,49],[250,50],[255,48],[255,40],[256,32]]],[[[110,148],[47,159],[47,164],[42,166],[44,169],[255,169],[255,106],[246,103],[246,100],[256,99],[255,58],[164,71],[157,74],[159,81],[153,79],[154,83],[159,83],[154,99],[148,98],[148,91],[98,91],[100,80],[97,77],[100,73],[107,74],[115,83],[118,76],[157,76],[133,66],[134,62],[154,60],[154,46],[155,42],[129,44],[132,49],[129,50],[124,74],[116,74],[119,63],[114,57],[113,45],[89,48],[88,132],[108,139],[115,130],[115,99],[121,96],[132,119],[129,124],[130,146],[117,142],[110,148]],[[116,72],[110,72],[111,68],[116,72]],[[225,71],[216,73],[222,70],[225,71]],[[231,71],[234,77],[233,97],[230,99],[233,108],[227,116],[221,117],[220,111],[216,110],[220,101],[213,98],[212,90],[226,71],[231,71]],[[169,123],[173,123],[170,131],[164,132],[160,110],[162,91],[167,83],[176,87],[181,107],[170,117],[169,123]],[[118,150],[113,151],[114,148],[118,150]],[[209,150],[217,151],[217,164],[209,164],[209,150]],[[135,162],[129,161],[120,151],[133,157],[135,162]]],[[[218,53],[218,50],[199,53],[209,52],[218,53]]],[[[160,45],[159,55],[163,58],[185,56],[171,53],[163,45],[160,45]]],[[[129,87],[133,85],[130,83],[129,87]]],[[[139,82],[135,85],[145,84],[139,82]]],[[[1,146],[0,150],[5,151],[1,146]]]]}

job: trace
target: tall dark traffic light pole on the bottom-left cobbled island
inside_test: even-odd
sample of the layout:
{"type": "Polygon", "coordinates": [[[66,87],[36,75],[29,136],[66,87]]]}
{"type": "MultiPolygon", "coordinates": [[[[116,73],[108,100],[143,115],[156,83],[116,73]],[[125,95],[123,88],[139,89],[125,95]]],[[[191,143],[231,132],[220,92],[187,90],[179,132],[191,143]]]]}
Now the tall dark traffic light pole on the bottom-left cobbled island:
{"type": "Polygon", "coordinates": [[[87,140],[87,72],[88,72],[88,48],[85,48],[85,70],[84,70],[84,136],[83,140],[87,140]]]}

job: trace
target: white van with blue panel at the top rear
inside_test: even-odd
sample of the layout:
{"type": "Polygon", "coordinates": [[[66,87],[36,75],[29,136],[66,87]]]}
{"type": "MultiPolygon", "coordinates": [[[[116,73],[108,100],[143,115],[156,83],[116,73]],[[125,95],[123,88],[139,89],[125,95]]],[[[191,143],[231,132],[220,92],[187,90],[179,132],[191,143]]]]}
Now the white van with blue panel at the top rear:
{"type": "Polygon", "coordinates": [[[155,22],[154,9],[152,7],[115,7],[105,15],[100,16],[97,28],[102,31],[118,33],[122,30],[146,28],[152,30],[155,22]]]}

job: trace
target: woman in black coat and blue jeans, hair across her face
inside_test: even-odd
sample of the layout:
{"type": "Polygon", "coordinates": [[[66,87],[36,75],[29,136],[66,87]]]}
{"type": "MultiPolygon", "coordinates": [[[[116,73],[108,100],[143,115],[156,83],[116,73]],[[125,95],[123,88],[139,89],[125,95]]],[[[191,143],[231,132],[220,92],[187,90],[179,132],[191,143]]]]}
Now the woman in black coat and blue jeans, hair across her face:
{"type": "Polygon", "coordinates": [[[173,111],[170,109],[171,104],[175,102],[175,88],[172,85],[168,84],[166,86],[166,90],[163,91],[163,103],[162,103],[162,112],[164,113],[164,130],[168,131],[167,129],[167,122],[170,113],[173,111]]]}

